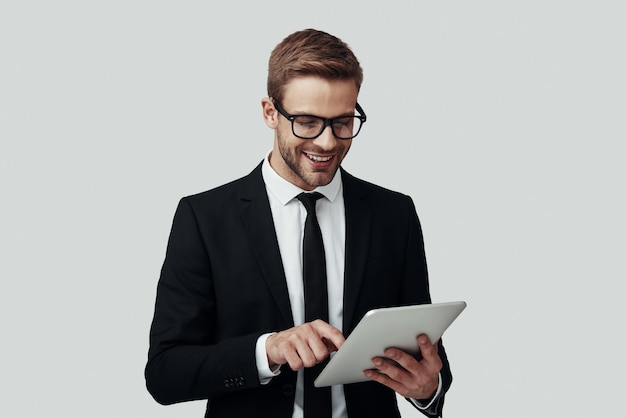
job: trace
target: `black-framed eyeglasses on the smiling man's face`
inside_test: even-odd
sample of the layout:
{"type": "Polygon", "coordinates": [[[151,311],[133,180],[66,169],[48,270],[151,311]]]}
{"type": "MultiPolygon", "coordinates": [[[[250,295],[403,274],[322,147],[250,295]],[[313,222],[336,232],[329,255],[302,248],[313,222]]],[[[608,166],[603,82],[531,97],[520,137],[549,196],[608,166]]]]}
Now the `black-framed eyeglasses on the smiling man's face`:
{"type": "Polygon", "coordinates": [[[359,134],[367,116],[363,108],[357,103],[356,111],[359,115],[338,116],[336,118],[322,118],[315,115],[291,115],[274,100],[274,107],[278,113],[291,122],[291,131],[300,139],[315,139],[324,132],[327,126],[338,139],[352,139],[359,134]]]}

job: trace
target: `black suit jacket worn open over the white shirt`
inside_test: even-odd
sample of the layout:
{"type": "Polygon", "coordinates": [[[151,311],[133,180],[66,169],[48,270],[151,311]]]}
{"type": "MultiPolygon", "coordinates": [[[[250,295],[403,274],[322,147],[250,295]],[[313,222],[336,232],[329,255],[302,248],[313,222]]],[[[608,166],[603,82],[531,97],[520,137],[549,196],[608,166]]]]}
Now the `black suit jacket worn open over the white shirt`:
{"type": "MultiPolygon", "coordinates": [[[[342,170],[346,210],[343,329],[375,307],[430,303],[422,232],[408,196],[342,170]]],[[[248,176],[183,198],[157,288],[145,376],[160,403],[208,399],[206,417],[291,417],[296,373],[260,385],[255,344],[293,319],[259,165],[248,176]]],[[[444,391],[452,381],[443,360],[444,391]]],[[[344,387],[351,417],[399,416],[395,393],[344,387]]],[[[429,416],[441,414],[443,397],[429,416]]]]}

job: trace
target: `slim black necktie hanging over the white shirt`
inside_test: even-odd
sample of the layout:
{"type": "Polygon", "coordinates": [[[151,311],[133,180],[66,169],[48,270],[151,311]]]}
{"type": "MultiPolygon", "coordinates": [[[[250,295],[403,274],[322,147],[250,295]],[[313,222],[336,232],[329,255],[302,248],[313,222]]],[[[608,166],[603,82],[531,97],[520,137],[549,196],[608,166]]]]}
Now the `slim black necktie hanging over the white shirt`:
{"type": "MultiPolygon", "coordinates": [[[[315,214],[315,203],[320,193],[301,193],[298,200],[307,211],[304,224],[302,262],[304,277],[304,321],[321,319],[328,322],[328,292],[326,290],[326,257],[322,231],[315,214]]],[[[304,418],[330,418],[332,405],[330,387],[316,388],[313,381],[326,362],[304,369],[304,418]]]]}

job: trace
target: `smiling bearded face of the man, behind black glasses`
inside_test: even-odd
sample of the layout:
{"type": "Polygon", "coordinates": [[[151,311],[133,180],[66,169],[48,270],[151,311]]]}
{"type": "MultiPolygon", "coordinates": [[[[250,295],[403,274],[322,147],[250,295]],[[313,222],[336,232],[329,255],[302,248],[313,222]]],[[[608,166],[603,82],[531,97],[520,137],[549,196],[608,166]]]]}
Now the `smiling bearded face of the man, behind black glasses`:
{"type": "MultiPolygon", "coordinates": [[[[289,114],[332,118],[353,114],[357,95],[353,80],[308,76],[290,81],[280,104],[289,114]]],[[[267,125],[275,129],[272,168],[304,190],[330,183],[352,140],[335,138],[330,126],[315,139],[300,139],[294,136],[291,122],[278,113],[269,99],[263,100],[263,114],[267,125]]]]}

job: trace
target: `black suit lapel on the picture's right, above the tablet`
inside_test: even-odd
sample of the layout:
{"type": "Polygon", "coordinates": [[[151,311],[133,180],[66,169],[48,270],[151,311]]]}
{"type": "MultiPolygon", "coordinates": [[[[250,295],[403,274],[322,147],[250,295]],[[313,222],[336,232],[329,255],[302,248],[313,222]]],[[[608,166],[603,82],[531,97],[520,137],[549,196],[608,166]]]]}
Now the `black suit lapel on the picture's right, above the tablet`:
{"type": "MultiPolygon", "coordinates": [[[[352,331],[371,234],[372,211],[361,182],[342,169],[343,198],[346,208],[346,265],[344,272],[343,330],[352,331]]],[[[356,318],[357,320],[360,318],[356,318]]]]}

